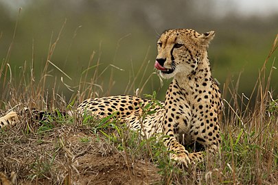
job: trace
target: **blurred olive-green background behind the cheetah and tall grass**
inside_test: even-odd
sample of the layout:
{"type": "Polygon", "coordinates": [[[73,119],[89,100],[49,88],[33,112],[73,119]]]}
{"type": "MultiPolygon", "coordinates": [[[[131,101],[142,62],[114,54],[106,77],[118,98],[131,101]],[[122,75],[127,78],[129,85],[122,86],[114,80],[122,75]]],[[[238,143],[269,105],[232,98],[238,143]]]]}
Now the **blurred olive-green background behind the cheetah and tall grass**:
{"type": "MultiPolygon", "coordinates": [[[[171,28],[193,28],[198,32],[216,31],[216,37],[209,47],[213,77],[218,79],[223,88],[227,79],[235,84],[241,74],[239,94],[244,93],[248,97],[277,35],[278,4],[277,1],[239,3],[227,0],[1,0],[0,59],[2,63],[7,61],[10,64],[14,79],[19,78],[22,66],[26,66],[25,73],[30,73],[33,61],[34,79],[36,82],[39,80],[47,60],[49,45],[58,37],[62,25],[65,27],[51,62],[71,79],[49,65],[47,88],[53,88],[56,80],[58,93],[68,98],[78,90],[76,86],[80,75],[88,68],[92,53],[94,56],[90,65],[100,63],[97,69],[99,75],[106,69],[97,81],[102,86],[98,90],[100,95],[135,95],[135,89],[142,88],[143,83],[154,72],[159,34],[171,28]],[[18,18],[20,7],[22,10],[18,18]],[[7,58],[16,20],[16,34],[10,58],[7,58]],[[140,70],[143,62],[148,65],[140,70]],[[138,77],[135,78],[137,73],[138,77]],[[111,74],[113,82],[110,80],[111,74]],[[60,77],[63,77],[65,84],[71,86],[73,92],[60,82],[60,77]],[[128,85],[134,79],[134,86],[128,85]],[[129,86],[132,87],[128,89],[129,86]]],[[[267,64],[268,72],[277,56],[278,52],[275,51],[267,64]]],[[[274,66],[277,66],[277,61],[274,66]]],[[[90,69],[89,74],[93,75],[94,70],[95,68],[90,69]]],[[[4,75],[10,78],[9,73],[1,75],[0,90],[5,86],[4,75]]],[[[277,79],[275,69],[271,82],[275,97],[277,79]]],[[[163,100],[169,82],[170,80],[166,80],[161,88],[159,77],[154,74],[143,87],[141,96],[157,90],[159,99],[163,100]]]]}

